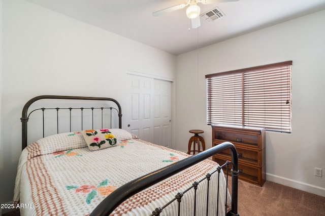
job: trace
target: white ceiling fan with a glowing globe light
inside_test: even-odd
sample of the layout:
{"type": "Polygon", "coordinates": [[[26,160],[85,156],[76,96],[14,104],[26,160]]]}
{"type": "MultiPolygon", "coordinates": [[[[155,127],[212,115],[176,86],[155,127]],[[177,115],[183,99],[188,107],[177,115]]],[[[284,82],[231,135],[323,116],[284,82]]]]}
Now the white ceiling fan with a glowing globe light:
{"type": "Polygon", "coordinates": [[[223,2],[237,2],[239,0],[184,0],[186,4],[176,5],[170,8],[165,8],[163,10],[155,11],[152,13],[153,16],[160,16],[163,14],[167,14],[172,11],[177,11],[179,9],[186,9],[186,16],[191,20],[192,28],[198,28],[200,23],[200,7],[197,5],[198,3],[202,3],[204,5],[214,4],[214,3],[223,3],[223,2]]]}

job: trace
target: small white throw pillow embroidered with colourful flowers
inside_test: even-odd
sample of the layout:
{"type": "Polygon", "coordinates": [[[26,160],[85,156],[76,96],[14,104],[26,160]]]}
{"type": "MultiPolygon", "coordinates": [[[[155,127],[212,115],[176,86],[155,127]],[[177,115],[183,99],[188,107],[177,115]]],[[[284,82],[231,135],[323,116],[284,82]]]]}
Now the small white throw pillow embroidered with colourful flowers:
{"type": "Polygon", "coordinates": [[[81,134],[85,139],[90,151],[105,149],[116,146],[117,139],[109,129],[88,129],[82,131],[81,134]]]}

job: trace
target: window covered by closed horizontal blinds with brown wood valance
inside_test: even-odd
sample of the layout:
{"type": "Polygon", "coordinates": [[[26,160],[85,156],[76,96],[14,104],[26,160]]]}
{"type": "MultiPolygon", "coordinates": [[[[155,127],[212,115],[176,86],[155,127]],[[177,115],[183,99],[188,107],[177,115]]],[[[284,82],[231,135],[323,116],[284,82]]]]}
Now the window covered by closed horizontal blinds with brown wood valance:
{"type": "Polygon", "coordinates": [[[291,132],[292,61],[208,74],[208,124],[291,132]]]}

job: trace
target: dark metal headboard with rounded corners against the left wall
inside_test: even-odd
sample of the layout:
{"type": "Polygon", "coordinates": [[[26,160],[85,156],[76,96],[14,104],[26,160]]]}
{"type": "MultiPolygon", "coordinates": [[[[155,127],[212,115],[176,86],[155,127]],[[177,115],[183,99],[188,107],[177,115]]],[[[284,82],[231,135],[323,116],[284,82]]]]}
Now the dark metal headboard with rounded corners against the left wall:
{"type": "MultiPolygon", "coordinates": [[[[56,111],[58,112],[59,109],[69,109],[70,113],[72,109],[81,109],[81,112],[84,109],[91,109],[92,111],[94,109],[115,109],[118,112],[118,127],[122,128],[122,110],[121,110],[121,106],[120,104],[112,98],[100,98],[100,97],[79,97],[79,96],[57,96],[57,95],[41,95],[41,96],[37,96],[35,98],[30,99],[25,106],[22,109],[22,115],[21,115],[21,126],[22,126],[22,142],[21,142],[21,147],[22,149],[24,149],[27,146],[27,123],[28,123],[28,119],[29,119],[29,115],[36,111],[36,110],[42,110],[43,111],[43,137],[44,137],[44,110],[45,109],[56,109],[56,111]],[[117,109],[113,108],[113,107],[100,107],[100,108],[94,108],[94,107],[90,107],[90,108],[39,108],[39,109],[35,109],[32,110],[31,112],[29,112],[28,114],[28,108],[31,104],[33,104],[34,102],[41,100],[41,99],[64,99],[64,100],[90,100],[90,101],[112,101],[116,104],[117,109]]],[[[58,118],[58,117],[57,117],[58,118]]],[[[103,125],[103,123],[102,123],[103,125]]],[[[71,114],[70,114],[70,129],[71,129],[71,114]]],[[[57,133],[58,133],[58,123],[57,123],[57,133]]]]}

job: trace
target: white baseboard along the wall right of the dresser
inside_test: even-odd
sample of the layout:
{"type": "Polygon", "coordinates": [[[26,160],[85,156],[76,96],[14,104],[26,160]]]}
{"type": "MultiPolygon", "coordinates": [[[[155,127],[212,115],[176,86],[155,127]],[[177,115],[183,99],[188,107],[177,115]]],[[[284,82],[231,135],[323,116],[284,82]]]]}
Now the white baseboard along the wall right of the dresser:
{"type": "Polygon", "coordinates": [[[322,187],[310,185],[310,184],[307,184],[304,182],[299,182],[296,180],[287,179],[284,177],[280,177],[280,176],[276,176],[276,175],[268,174],[268,173],[266,174],[266,180],[325,197],[325,188],[322,188],[322,187]]]}

